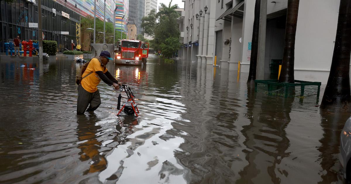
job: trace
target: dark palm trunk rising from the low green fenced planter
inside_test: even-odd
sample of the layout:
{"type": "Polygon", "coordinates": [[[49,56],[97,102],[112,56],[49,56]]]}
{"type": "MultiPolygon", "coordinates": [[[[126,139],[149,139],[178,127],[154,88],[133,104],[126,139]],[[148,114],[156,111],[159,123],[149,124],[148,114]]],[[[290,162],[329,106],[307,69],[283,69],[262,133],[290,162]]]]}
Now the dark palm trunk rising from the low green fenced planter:
{"type": "Polygon", "coordinates": [[[285,46],[279,82],[294,83],[294,50],[299,0],[287,1],[285,46]]]}

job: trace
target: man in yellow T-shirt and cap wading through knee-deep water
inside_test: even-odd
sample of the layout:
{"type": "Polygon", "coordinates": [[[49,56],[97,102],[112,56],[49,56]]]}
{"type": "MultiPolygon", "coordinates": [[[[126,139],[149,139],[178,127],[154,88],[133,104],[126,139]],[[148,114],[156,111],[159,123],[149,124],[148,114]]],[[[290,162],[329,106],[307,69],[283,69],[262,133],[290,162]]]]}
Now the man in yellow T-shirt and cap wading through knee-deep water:
{"type": "Polygon", "coordinates": [[[97,88],[100,80],[109,86],[113,85],[114,89],[119,89],[121,83],[106,68],[110,60],[112,60],[110,52],[102,51],[99,57],[92,58],[88,63],[82,74],[81,82],[78,84],[77,114],[84,114],[85,111],[92,112],[100,106],[101,99],[97,88]],[[90,107],[87,109],[89,104],[90,107]]]}

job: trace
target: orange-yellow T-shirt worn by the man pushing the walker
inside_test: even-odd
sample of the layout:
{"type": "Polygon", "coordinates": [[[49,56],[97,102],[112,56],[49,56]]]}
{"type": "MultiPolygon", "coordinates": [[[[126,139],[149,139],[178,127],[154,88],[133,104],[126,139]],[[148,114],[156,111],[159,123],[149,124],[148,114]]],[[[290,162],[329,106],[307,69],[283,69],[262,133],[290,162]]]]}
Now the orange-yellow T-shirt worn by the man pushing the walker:
{"type": "Polygon", "coordinates": [[[93,73],[88,75],[84,79],[82,79],[82,81],[80,82],[82,87],[86,91],[88,91],[90,93],[94,93],[95,91],[98,90],[97,86],[100,83],[101,79],[100,79],[99,75],[95,72],[102,71],[102,73],[105,74],[107,72],[107,68],[105,68],[105,69],[104,68],[105,67],[101,65],[101,63],[99,62],[99,60],[97,58],[93,58],[90,61],[87,68],[85,69],[82,77],[88,75],[91,71],[93,71],[93,73]]]}

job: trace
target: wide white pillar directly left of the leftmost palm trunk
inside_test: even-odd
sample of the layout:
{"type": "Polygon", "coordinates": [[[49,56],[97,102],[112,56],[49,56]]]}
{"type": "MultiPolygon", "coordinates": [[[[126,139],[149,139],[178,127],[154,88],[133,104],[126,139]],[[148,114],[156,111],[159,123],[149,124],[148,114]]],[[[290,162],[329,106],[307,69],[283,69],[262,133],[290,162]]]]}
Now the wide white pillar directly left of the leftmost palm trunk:
{"type": "Polygon", "coordinates": [[[243,31],[241,33],[243,48],[242,48],[242,56],[240,61],[241,63],[240,72],[249,72],[249,68],[250,68],[250,60],[247,59],[247,51],[248,51],[249,42],[252,42],[254,9],[255,9],[255,1],[245,0],[243,31]]]}

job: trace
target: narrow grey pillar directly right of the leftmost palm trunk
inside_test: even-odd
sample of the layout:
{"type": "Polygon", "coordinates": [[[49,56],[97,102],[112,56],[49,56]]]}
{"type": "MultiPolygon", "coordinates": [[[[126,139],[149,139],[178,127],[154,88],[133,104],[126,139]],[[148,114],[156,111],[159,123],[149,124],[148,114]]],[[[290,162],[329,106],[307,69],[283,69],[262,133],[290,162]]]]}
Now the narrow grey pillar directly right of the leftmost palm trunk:
{"type": "Polygon", "coordinates": [[[266,47],[266,24],[267,24],[267,1],[261,1],[260,6],[260,25],[258,32],[258,51],[257,51],[257,71],[256,79],[264,79],[264,60],[266,47]]]}

